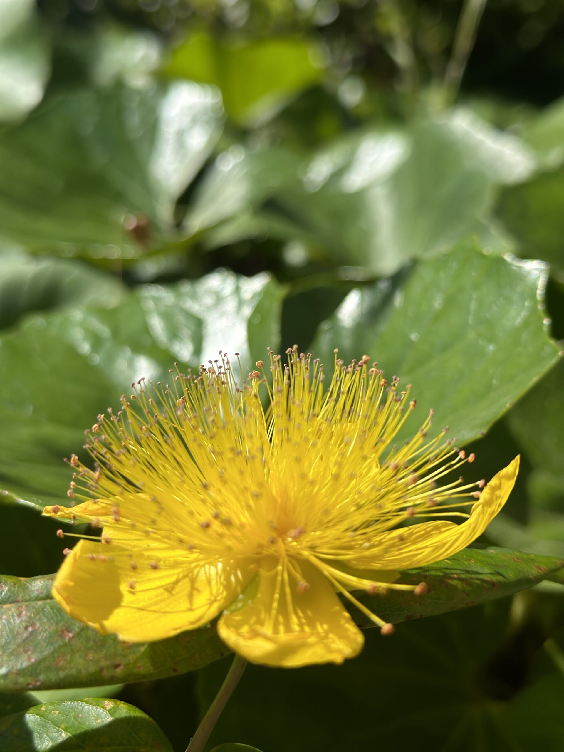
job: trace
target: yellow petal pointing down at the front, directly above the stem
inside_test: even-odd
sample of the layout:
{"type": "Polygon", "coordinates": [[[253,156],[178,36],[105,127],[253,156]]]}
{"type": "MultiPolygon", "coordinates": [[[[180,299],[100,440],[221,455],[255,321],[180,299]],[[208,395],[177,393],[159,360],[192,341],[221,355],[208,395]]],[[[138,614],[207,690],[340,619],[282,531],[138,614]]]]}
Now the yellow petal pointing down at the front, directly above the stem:
{"type": "Polygon", "coordinates": [[[289,569],[284,581],[282,564],[274,565],[271,572],[261,569],[250,605],[223,614],[217,631],[232,650],[253,663],[284,667],[343,663],[362,650],[362,632],[329,581],[311,564],[299,566],[305,592],[289,569]]]}

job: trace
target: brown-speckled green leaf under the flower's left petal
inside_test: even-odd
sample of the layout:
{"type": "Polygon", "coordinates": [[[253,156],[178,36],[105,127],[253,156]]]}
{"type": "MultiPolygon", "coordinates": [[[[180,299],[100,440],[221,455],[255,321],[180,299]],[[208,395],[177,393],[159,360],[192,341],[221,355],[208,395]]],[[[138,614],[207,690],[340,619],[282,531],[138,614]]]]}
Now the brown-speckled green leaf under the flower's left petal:
{"type": "Polygon", "coordinates": [[[0,692],[147,681],[194,671],[229,652],[211,627],[148,644],[102,637],[59,608],[52,582],[0,578],[0,692]]]}

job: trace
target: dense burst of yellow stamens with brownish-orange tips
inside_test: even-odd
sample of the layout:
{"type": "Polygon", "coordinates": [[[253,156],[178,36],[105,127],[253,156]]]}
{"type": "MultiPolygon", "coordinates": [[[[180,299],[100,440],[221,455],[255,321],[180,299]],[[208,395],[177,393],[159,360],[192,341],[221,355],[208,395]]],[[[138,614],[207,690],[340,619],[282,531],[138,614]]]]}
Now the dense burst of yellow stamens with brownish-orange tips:
{"type": "MultiPolygon", "coordinates": [[[[273,602],[261,628],[267,632],[280,599],[297,623],[293,599],[308,593],[305,571],[314,566],[390,633],[350,590],[424,592],[393,582],[387,553],[401,549],[402,529],[414,521],[469,517],[461,509],[475,503],[484,481],[438,481],[474,455],[445,441],[446,429],[427,441],[432,413],[411,441],[394,445],[416,403],[411,387],[399,390],[399,379],[388,382],[368,356],[345,365],[335,351],[326,390],[323,365],[311,354],[294,347],[287,362],[269,356],[269,377],[259,361],[247,379],[239,363],[236,378],[220,353],[197,375],[177,368],[169,384],[132,384],[120,411],[108,409],[88,432],[95,468],[71,457],[68,495],[89,505],[87,514],[77,508],[76,518],[103,526],[108,545],[112,531],[119,537],[126,529],[129,540],[154,552],[150,569],[182,567],[185,556],[190,566],[229,559],[244,560],[251,572],[271,570],[273,602]],[[383,544],[390,531],[396,533],[383,544]],[[365,567],[375,568],[373,578],[354,573],[365,567]]],[[[51,513],[73,516],[65,508],[51,513]]],[[[140,566],[135,549],[127,555],[135,590],[140,566]]],[[[103,552],[92,556],[108,560],[103,552]]]]}

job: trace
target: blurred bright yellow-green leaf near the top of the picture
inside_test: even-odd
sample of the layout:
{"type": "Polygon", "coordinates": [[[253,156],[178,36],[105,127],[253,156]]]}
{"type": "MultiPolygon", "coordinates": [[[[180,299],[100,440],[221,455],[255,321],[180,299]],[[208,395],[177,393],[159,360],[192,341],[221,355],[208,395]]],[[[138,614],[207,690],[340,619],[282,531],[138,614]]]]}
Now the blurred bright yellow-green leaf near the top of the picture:
{"type": "Polygon", "coordinates": [[[322,60],[320,50],[306,39],[277,37],[241,44],[200,32],[172,50],[161,72],[218,86],[229,117],[250,125],[268,119],[317,83],[323,77],[322,60]]]}

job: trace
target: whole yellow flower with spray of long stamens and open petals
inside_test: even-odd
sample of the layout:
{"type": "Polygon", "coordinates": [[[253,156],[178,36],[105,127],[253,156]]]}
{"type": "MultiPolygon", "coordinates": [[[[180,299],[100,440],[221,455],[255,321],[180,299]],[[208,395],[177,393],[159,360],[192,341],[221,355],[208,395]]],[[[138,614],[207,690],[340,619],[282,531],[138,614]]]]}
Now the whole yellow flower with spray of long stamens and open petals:
{"type": "Polygon", "coordinates": [[[103,527],[101,539],[80,536],[56,575],[65,611],[134,642],[222,614],[220,637],[250,661],[342,663],[363,636],[338,593],[392,632],[353,591],[417,595],[424,586],[397,584],[399,570],[444,559],[484,531],[518,457],[485,488],[440,487],[474,455],[444,432],[426,441],[431,416],[392,445],[415,408],[410,387],[388,384],[368,356],[348,366],[335,356],[324,390],[323,365],[296,347],[287,354],[287,365],[270,354],[270,379],[259,361],[237,380],[220,353],[196,377],[171,371],[170,385],[132,385],[119,413],[99,415],[86,443],[95,469],[70,461],[68,494],[83,502],[44,511],[103,527]],[[449,516],[465,521],[437,519],[449,516]]]}

